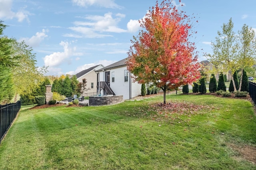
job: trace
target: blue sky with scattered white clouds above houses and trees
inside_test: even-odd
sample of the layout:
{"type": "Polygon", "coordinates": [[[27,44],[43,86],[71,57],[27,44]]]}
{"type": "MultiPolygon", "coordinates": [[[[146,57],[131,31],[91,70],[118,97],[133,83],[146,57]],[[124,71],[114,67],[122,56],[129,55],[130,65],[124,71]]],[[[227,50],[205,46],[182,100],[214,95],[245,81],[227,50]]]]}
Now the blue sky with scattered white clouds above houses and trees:
{"type": "MultiPolygon", "coordinates": [[[[210,42],[230,18],[236,33],[244,24],[256,30],[255,0],[173,3],[198,20],[191,39],[198,61],[212,53],[210,42]]],[[[155,4],[156,0],[0,0],[0,20],[9,25],[4,35],[33,48],[37,66],[49,66],[46,75],[60,76],[126,58],[130,40],[140,30],[138,20],[155,4]]]]}

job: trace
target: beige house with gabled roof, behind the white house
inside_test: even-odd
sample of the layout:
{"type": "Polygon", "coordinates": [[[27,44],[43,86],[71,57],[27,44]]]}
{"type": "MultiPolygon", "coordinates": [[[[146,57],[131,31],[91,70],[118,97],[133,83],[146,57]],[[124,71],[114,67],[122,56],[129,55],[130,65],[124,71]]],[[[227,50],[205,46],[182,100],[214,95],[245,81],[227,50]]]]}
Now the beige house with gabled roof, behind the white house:
{"type": "Polygon", "coordinates": [[[76,74],[76,77],[79,82],[82,82],[82,80],[85,78],[87,81],[86,88],[90,88],[88,91],[86,91],[82,96],[92,96],[97,94],[97,74],[96,70],[103,68],[104,66],[102,64],[92,66],[86,70],[82,70],[81,72],[78,72],[76,74]]]}

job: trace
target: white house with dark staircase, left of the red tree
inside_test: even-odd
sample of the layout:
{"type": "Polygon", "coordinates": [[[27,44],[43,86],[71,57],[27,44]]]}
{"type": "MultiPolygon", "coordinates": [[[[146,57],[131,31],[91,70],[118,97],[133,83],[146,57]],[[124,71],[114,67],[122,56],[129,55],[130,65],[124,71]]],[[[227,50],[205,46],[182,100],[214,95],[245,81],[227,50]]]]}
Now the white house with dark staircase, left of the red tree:
{"type": "Polygon", "coordinates": [[[97,94],[122,95],[124,100],[139,96],[141,84],[133,82],[126,59],[100,68],[97,73],[97,94]]]}

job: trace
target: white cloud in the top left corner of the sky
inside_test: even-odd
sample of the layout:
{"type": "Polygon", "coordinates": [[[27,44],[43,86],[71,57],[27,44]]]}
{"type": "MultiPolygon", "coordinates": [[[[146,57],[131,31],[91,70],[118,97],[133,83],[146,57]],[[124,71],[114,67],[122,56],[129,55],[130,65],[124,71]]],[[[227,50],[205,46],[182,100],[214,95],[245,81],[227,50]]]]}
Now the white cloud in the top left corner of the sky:
{"type": "Polygon", "coordinates": [[[24,19],[29,21],[28,15],[31,15],[28,11],[20,9],[18,12],[12,11],[12,0],[1,0],[0,1],[0,18],[10,19],[17,18],[19,22],[24,19]]]}

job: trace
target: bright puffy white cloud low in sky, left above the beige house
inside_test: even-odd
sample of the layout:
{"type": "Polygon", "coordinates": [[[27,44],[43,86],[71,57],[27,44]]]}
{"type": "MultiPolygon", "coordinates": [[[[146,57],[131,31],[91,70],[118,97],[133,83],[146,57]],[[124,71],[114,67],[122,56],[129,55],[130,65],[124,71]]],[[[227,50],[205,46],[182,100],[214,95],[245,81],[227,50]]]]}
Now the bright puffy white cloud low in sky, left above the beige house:
{"type": "Polygon", "coordinates": [[[50,55],[46,55],[43,58],[45,66],[58,66],[61,63],[68,62],[68,59],[74,55],[76,49],[69,47],[70,44],[68,42],[61,41],[60,45],[63,46],[64,51],[54,52],[50,55]]]}

